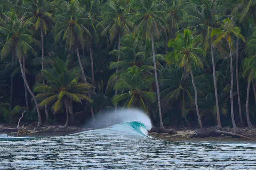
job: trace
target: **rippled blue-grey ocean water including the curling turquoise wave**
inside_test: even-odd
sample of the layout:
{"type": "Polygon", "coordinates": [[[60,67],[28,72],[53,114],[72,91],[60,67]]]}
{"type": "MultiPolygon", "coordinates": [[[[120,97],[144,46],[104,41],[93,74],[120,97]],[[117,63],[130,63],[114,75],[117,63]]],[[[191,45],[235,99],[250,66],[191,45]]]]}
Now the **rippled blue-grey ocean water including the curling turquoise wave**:
{"type": "Polygon", "coordinates": [[[148,119],[66,136],[0,134],[0,169],[256,169],[256,142],[166,142],[148,136],[148,119]]]}

